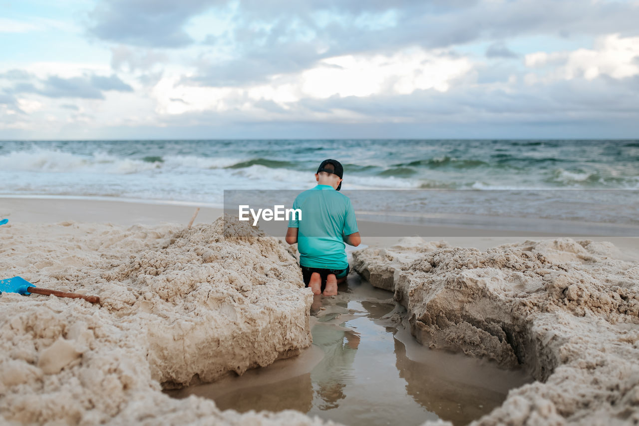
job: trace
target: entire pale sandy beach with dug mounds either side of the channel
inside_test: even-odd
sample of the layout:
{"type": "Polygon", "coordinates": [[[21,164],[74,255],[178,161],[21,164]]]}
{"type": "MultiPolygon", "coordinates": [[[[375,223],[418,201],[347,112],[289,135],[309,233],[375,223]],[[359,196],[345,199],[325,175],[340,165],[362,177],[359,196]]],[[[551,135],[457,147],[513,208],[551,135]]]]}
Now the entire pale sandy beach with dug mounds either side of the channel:
{"type": "MultiPolygon", "coordinates": [[[[254,383],[268,386],[282,374],[310,371],[297,364],[294,373],[282,372],[298,354],[309,365],[321,358],[308,349],[321,316],[311,315],[319,311],[295,251],[250,226],[225,223],[221,210],[201,209],[187,229],[194,209],[0,198],[0,216],[9,219],[0,226],[2,278],[101,298],[0,297],[6,422],[330,424],[290,410],[222,411],[210,398],[162,392],[268,370],[279,359],[270,382],[254,383]]],[[[360,221],[367,247],[353,253],[351,267],[387,290],[387,303],[403,307],[406,351],[421,343],[532,377],[504,379],[505,388],[493,388],[503,403],[464,422],[639,421],[636,239],[438,227],[437,235],[450,237],[431,241],[427,226],[398,228],[397,235],[415,235],[407,239],[367,238],[375,226],[406,225],[360,221]]],[[[337,312],[331,306],[323,308],[337,312]]],[[[391,321],[396,311],[384,312],[374,320],[391,321]]],[[[446,418],[415,424],[437,417],[446,418]]],[[[463,424],[456,418],[449,420],[463,424]]]]}

